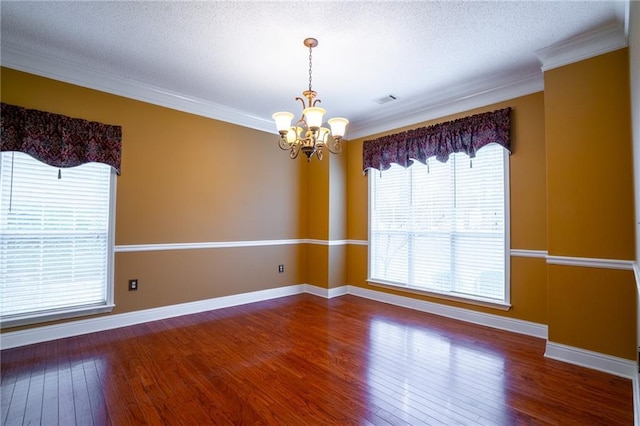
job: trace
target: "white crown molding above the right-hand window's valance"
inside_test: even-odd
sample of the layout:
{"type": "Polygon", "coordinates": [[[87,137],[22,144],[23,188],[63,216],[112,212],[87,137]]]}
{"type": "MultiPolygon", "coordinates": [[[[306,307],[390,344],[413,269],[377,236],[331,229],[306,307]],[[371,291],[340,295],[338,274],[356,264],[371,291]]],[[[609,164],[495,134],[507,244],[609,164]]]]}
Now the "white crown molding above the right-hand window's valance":
{"type": "Polygon", "coordinates": [[[420,99],[406,104],[401,109],[389,111],[382,108],[380,112],[371,113],[366,119],[358,120],[349,126],[347,136],[349,139],[371,136],[542,90],[544,82],[541,71],[501,80],[473,80],[467,84],[447,88],[427,103],[420,99]]]}

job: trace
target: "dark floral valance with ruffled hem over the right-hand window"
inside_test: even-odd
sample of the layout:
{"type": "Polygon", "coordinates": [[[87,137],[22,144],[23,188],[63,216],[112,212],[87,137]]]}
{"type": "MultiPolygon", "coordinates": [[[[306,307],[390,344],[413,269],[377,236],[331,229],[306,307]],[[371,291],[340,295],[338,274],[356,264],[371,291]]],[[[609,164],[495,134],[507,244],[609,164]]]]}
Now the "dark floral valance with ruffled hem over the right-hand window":
{"type": "Polygon", "coordinates": [[[444,163],[456,152],[473,158],[476,151],[490,143],[511,152],[510,112],[511,108],[504,108],[364,141],[363,171],[387,170],[391,163],[409,167],[414,160],[426,164],[431,157],[444,163]]]}

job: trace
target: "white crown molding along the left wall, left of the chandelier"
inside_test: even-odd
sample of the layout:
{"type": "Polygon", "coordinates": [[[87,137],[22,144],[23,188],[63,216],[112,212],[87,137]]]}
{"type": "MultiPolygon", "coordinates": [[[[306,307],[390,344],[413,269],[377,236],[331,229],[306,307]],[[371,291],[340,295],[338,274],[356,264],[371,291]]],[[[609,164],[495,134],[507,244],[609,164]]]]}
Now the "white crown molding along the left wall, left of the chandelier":
{"type": "Polygon", "coordinates": [[[213,118],[251,129],[275,133],[272,120],[250,115],[244,111],[229,108],[215,102],[184,96],[150,84],[88,68],[82,64],[62,61],[50,55],[20,49],[9,44],[2,45],[2,57],[0,61],[3,67],[18,71],[213,118]]]}

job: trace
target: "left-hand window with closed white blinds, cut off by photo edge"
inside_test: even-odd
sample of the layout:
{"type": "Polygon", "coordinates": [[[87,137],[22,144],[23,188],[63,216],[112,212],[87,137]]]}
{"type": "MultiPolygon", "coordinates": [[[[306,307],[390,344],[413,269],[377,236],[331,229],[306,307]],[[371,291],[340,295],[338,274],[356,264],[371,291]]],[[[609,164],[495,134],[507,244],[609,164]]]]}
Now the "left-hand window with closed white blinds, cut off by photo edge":
{"type": "Polygon", "coordinates": [[[0,158],[2,326],[113,308],[115,172],[0,158]]]}

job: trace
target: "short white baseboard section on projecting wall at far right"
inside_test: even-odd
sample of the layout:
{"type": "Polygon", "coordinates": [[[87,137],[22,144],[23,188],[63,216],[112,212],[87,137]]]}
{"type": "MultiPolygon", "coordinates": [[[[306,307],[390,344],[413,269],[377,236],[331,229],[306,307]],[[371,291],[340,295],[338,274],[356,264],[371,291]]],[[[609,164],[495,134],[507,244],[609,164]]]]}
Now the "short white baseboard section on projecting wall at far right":
{"type": "Polygon", "coordinates": [[[618,358],[613,355],[605,355],[560,343],[547,341],[544,356],[631,380],[637,379],[638,376],[638,365],[630,359],[618,358]]]}

